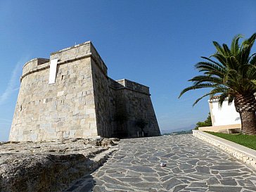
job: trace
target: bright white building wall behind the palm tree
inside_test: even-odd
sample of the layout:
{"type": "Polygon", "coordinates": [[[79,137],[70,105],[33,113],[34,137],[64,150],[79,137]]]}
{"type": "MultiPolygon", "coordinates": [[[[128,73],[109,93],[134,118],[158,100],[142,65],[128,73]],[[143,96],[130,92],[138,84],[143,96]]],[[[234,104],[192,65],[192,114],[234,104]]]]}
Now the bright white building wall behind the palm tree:
{"type": "Polygon", "coordinates": [[[236,112],[234,103],[228,105],[228,101],[224,101],[222,108],[219,108],[219,101],[217,99],[208,102],[210,105],[212,126],[241,124],[240,115],[236,112]]]}

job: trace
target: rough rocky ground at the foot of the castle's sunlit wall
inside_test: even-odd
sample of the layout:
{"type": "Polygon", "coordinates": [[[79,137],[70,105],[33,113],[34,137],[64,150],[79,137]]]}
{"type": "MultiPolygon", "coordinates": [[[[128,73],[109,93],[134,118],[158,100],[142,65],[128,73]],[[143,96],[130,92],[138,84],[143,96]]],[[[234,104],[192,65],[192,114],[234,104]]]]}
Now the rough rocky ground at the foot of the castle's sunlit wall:
{"type": "Polygon", "coordinates": [[[1,142],[0,191],[62,191],[99,167],[118,139],[1,142]]]}

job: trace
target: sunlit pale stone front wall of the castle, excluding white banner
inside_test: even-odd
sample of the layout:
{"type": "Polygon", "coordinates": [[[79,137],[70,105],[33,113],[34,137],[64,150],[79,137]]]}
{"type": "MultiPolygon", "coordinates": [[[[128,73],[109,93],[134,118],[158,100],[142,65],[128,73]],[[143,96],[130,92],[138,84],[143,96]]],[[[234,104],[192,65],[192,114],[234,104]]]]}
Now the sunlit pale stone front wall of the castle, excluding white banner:
{"type": "Polygon", "coordinates": [[[88,53],[89,43],[52,53],[59,60],[55,84],[49,84],[49,62],[25,64],[9,140],[98,135],[91,58],[77,58],[88,53]]]}

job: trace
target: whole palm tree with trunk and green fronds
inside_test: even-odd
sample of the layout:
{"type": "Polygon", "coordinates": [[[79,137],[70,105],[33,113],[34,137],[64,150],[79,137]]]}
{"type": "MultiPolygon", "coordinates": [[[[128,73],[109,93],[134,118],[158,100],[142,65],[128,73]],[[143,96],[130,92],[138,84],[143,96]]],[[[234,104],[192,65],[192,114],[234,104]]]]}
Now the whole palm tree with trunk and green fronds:
{"type": "Polygon", "coordinates": [[[250,54],[256,39],[256,33],[239,44],[241,34],[236,35],[231,47],[226,44],[220,46],[216,41],[213,44],[217,50],[205,61],[196,64],[196,69],[203,72],[188,80],[193,86],[187,87],[179,98],[189,90],[212,88],[210,92],[198,98],[193,105],[205,96],[219,96],[219,106],[227,99],[231,104],[234,101],[236,111],[240,114],[243,134],[256,134],[256,53],[250,54]]]}

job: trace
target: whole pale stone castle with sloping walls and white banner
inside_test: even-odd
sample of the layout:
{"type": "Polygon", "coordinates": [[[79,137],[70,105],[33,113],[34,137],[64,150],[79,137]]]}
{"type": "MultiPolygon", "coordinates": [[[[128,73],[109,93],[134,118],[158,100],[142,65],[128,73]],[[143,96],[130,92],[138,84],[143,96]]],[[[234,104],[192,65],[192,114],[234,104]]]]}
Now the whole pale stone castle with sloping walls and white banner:
{"type": "Polygon", "coordinates": [[[159,136],[149,88],[107,70],[91,41],[25,63],[9,140],[159,136]]]}

